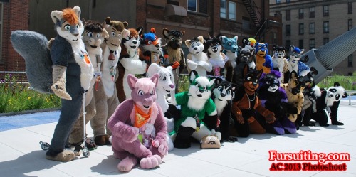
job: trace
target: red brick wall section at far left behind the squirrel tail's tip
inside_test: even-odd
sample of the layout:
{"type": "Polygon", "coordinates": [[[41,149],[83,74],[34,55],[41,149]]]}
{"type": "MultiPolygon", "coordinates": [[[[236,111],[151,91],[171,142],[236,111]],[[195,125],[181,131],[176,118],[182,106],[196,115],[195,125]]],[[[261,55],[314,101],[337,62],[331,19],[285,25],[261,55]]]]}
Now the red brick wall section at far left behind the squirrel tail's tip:
{"type": "Polygon", "coordinates": [[[21,55],[12,48],[10,36],[11,31],[28,30],[28,11],[29,0],[4,2],[0,71],[25,70],[25,62],[21,55]]]}

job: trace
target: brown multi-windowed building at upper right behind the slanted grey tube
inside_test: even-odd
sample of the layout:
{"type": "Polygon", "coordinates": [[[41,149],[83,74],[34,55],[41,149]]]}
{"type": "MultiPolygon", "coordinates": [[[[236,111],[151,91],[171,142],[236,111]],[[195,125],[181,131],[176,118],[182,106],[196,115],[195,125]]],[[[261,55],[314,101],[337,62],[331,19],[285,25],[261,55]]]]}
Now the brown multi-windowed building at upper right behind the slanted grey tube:
{"type": "MultiPolygon", "coordinates": [[[[270,13],[282,18],[283,45],[293,44],[305,52],[332,41],[353,28],[356,0],[270,0],[270,13]]],[[[356,71],[356,52],[333,68],[339,75],[356,71]]]]}

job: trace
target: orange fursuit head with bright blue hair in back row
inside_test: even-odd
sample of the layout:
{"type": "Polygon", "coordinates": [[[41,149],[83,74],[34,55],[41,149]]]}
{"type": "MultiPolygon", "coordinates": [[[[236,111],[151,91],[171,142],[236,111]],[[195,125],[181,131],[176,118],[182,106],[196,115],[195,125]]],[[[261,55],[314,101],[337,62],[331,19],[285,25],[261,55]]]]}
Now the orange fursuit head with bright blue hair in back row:
{"type": "Polygon", "coordinates": [[[142,35],[142,49],[153,53],[162,53],[162,39],[156,35],[155,28],[142,35]]]}

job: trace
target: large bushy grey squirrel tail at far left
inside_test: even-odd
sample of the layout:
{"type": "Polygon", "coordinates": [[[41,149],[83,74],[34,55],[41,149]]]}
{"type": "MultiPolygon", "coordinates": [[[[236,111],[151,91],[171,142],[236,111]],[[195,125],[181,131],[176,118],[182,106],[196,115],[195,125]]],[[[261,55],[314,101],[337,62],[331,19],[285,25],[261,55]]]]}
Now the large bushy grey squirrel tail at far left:
{"type": "Polygon", "coordinates": [[[26,75],[31,87],[51,93],[52,60],[46,36],[35,31],[12,31],[11,43],[26,63],[26,75]]]}

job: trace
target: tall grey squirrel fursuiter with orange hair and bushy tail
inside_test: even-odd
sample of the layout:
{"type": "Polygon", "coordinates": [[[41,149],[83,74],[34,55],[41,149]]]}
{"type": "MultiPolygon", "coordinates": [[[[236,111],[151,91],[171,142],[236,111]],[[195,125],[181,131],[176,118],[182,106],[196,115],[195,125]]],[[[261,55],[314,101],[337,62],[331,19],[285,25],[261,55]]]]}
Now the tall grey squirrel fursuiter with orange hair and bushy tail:
{"type": "Polygon", "coordinates": [[[64,148],[83,106],[83,94],[89,89],[93,65],[82,41],[84,28],[79,20],[80,7],[52,11],[51,18],[58,33],[51,51],[47,48],[46,37],[34,31],[14,31],[11,42],[26,61],[26,75],[31,86],[38,92],[51,92],[51,87],[62,98],[61,114],[46,159],[71,161],[78,154],[64,148]]]}

